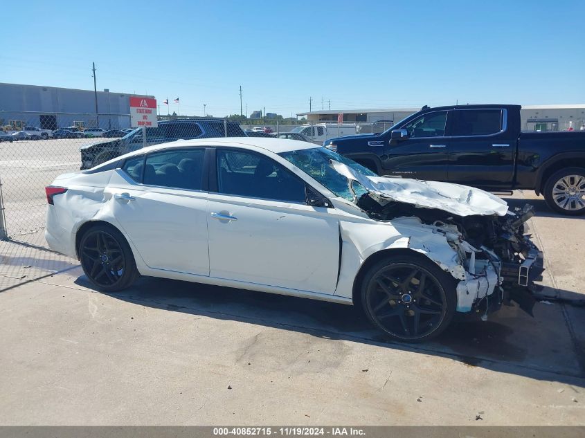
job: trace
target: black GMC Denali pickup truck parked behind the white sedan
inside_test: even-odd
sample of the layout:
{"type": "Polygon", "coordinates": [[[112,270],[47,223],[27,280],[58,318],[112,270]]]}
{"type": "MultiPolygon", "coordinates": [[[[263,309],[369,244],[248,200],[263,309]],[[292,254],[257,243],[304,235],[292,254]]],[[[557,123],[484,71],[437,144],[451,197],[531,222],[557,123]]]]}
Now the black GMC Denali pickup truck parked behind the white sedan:
{"type": "Polygon", "coordinates": [[[521,132],[519,105],[424,107],[381,134],[323,145],[379,175],[543,194],[552,210],[585,214],[585,131],[521,132]]]}

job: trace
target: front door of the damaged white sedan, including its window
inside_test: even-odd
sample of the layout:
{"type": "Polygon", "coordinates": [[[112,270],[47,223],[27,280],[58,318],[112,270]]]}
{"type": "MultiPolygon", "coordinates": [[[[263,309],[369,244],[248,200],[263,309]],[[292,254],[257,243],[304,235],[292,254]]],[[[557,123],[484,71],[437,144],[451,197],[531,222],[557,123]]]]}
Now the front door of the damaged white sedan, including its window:
{"type": "Polygon", "coordinates": [[[305,183],[263,154],[217,149],[208,201],[210,275],[333,294],[339,220],[307,206],[305,183]]]}

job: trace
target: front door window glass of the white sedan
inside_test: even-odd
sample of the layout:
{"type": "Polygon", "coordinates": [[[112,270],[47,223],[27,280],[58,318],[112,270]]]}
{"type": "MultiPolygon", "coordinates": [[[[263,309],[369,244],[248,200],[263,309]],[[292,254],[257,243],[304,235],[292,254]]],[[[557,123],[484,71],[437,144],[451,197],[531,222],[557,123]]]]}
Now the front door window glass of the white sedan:
{"type": "Polygon", "coordinates": [[[266,156],[217,151],[219,193],[285,202],[305,202],[305,183],[266,156]]]}

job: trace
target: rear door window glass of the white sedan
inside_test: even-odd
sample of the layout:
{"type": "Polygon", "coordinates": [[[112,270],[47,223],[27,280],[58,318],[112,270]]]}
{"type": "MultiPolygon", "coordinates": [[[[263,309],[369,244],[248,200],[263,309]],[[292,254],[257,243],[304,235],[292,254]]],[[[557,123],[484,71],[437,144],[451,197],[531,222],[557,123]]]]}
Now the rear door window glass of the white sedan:
{"type": "Polygon", "coordinates": [[[146,156],[143,183],[201,190],[205,150],[171,150],[146,156]]]}

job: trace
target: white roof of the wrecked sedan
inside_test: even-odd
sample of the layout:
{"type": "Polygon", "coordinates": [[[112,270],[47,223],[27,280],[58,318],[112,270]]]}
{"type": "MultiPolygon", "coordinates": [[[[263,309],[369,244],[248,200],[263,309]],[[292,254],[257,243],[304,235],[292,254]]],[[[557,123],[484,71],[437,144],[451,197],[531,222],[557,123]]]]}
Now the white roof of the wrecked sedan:
{"type": "Polygon", "coordinates": [[[285,138],[264,138],[264,137],[221,137],[221,138],[199,138],[197,140],[177,140],[170,143],[162,143],[161,145],[152,145],[138,149],[128,156],[138,155],[143,152],[152,152],[174,147],[192,147],[192,146],[228,146],[228,147],[243,147],[246,146],[260,147],[274,154],[282,152],[296,151],[299,149],[313,149],[319,147],[314,143],[300,142],[298,140],[287,140],[285,138]]]}

